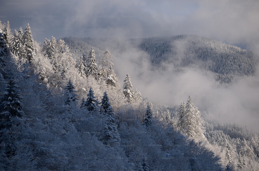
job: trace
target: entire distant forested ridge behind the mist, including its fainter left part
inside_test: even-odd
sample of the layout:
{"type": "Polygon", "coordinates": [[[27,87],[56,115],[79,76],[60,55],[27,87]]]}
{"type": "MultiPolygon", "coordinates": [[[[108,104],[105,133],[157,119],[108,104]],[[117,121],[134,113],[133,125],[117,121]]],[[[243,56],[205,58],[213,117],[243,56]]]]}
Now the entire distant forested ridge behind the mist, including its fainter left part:
{"type": "Polygon", "coordinates": [[[95,46],[99,63],[103,51],[120,49],[123,51],[132,45],[150,55],[154,69],[199,68],[213,72],[215,79],[229,83],[234,78],[253,74],[256,62],[253,53],[236,46],[214,39],[195,35],[178,35],[171,37],[151,37],[119,41],[114,38],[62,38],[78,59],[83,52],[88,53],[95,46]],[[166,65],[164,65],[166,64],[166,65]]]}

